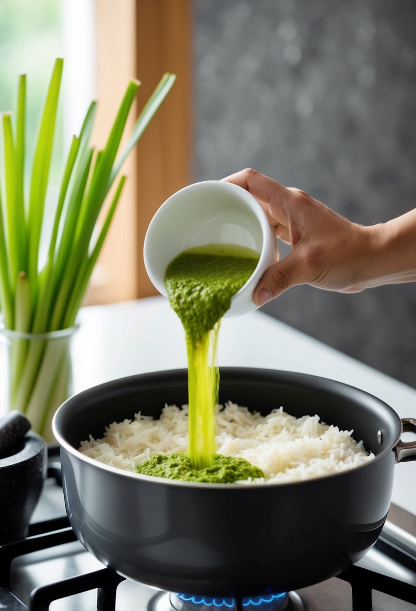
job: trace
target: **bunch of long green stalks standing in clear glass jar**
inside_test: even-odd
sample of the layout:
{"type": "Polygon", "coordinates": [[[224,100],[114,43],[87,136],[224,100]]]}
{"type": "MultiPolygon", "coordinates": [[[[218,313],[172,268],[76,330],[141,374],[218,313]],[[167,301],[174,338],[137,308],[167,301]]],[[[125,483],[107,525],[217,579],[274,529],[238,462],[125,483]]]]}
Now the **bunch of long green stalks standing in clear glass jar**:
{"type": "Polygon", "coordinates": [[[120,175],[121,166],[176,78],[170,73],[162,76],[122,150],[120,141],[140,82],[132,79],[127,84],[102,150],[90,145],[96,102],[90,104],[63,164],[52,229],[46,236],[46,262],[40,263],[62,69],[63,60],[57,59],[30,172],[26,172],[25,156],[26,75],[18,81],[15,116],[10,112],[1,116],[0,326],[9,341],[8,407],[24,412],[32,429],[47,441],[52,416],[68,392],[69,338],[126,181],[120,175]],[[26,174],[30,174],[27,185],[26,174]],[[113,183],[106,216],[98,226],[113,183]]]}

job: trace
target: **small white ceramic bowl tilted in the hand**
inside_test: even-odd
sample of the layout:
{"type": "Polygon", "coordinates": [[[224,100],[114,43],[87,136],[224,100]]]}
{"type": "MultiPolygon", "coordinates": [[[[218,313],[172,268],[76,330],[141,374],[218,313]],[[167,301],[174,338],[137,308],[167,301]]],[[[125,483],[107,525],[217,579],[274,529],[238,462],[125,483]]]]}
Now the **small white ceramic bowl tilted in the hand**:
{"type": "Polygon", "coordinates": [[[187,248],[237,244],[259,253],[259,263],[231,299],[225,316],[256,309],[253,291],[268,267],[279,258],[278,242],[265,211],[245,189],[207,180],[174,193],[152,218],[145,237],[145,267],[154,286],[167,297],[164,279],[171,260],[187,248]]]}

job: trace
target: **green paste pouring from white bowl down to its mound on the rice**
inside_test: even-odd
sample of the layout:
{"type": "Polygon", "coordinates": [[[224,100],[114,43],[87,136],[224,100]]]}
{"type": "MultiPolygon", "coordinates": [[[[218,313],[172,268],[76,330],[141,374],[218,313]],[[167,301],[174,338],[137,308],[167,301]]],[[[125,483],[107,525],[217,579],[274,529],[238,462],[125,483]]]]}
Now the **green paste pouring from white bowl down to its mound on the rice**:
{"type": "Polygon", "coordinates": [[[246,247],[208,244],[187,249],[168,265],[165,287],[184,326],[187,345],[188,453],[153,456],[137,467],[139,473],[220,483],[263,477],[262,470],[245,459],[215,454],[220,322],[258,261],[259,254],[246,247]]]}

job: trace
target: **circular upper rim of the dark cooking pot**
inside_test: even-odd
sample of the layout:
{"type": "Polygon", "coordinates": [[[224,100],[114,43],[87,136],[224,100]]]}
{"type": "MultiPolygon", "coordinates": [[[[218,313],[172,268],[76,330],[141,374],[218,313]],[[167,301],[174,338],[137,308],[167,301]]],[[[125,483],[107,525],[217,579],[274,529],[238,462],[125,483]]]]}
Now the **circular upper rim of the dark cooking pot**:
{"type": "MultiPolygon", "coordinates": [[[[56,411],[56,413],[54,414],[54,418],[52,420],[52,431],[54,433],[54,436],[57,439],[57,442],[59,443],[59,445],[66,450],[66,452],[70,453],[71,455],[73,455],[75,458],[80,459],[81,461],[84,461],[85,463],[89,464],[90,466],[93,467],[97,467],[98,469],[102,469],[105,470],[107,472],[110,472],[112,474],[115,475],[121,475],[123,477],[127,477],[127,478],[131,478],[133,480],[137,480],[137,481],[145,481],[147,483],[152,483],[155,485],[170,485],[170,486],[185,486],[186,488],[202,488],[202,489],[213,489],[213,488],[220,488],[220,489],[224,489],[224,490],[253,490],[253,489],[259,489],[259,488],[270,488],[270,489],[274,489],[274,488],[283,488],[283,489],[287,489],[287,488],[292,488],[293,486],[306,486],[306,485],[313,485],[314,482],[317,481],[323,481],[323,480],[332,480],[334,478],[342,478],[342,477],[347,477],[348,474],[350,474],[351,472],[357,472],[359,470],[362,469],[366,469],[367,467],[369,467],[371,464],[374,464],[376,461],[381,460],[388,452],[393,452],[394,453],[394,448],[396,446],[396,444],[400,441],[400,435],[401,435],[401,431],[402,431],[402,423],[400,420],[399,415],[395,412],[395,410],[389,406],[387,403],[384,403],[384,401],[382,401],[381,399],[379,399],[378,397],[375,397],[375,395],[371,395],[371,393],[368,393],[366,390],[362,390],[359,389],[355,386],[351,386],[351,384],[346,384],[345,382],[340,382],[338,380],[334,380],[334,379],[330,379],[330,378],[323,378],[323,376],[315,376],[315,375],[310,375],[309,373],[301,373],[301,372],[296,372],[296,371],[285,371],[285,370],[276,370],[276,369],[267,369],[267,368],[256,368],[256,367],[221,367],[220,368],[220,378],[221,378],[221,371],[225,372],[239,372],[241,374],[243,374],[244,376],[248,375],[249,372],[253,373],[260,373],[262,372],[263,374],[267,375],[270,373],[281,373],[282,375],[287,375],[289,376],[289,378],[291,378],[292,376],[298,376],[299,378],[303,379],[304,381],[325,381],[327,384],[328,382],[330,384],[333,384],[335,387],[339,387],[340,389],[353,389],[354,392],[356,393],[360,393],[363,396],[367,396],[367,397],[371,397],[373,399],[376,399],[377,401],[379,401],[379,403],[381,403],[384,407],[384,409],[387,409],[387,411],[390,411],[391,414],[393,415],[393,417],[398,421],[398,423],[400,423],[400,431],[398,433],[398,435],[396,436],[395,441],[389,445],[389,447],[384,448],[384,450],[382,450],[380,453],[375,455],[375,458],[373,458],[373,460],[369,461],[368,463],[365,464],[361,464],[359,466],[356,467],[352,467],[351,469],[345,469],[343,471],[331,474],[331,475],[321,475],[319,477],[313,477],[313,478],[308,478],[306,480],[299,480],[299,481],[289,481],[289,482],[282,482],[282,483],[250,483],[250,484],[243,484],[243,483],[232,483],[232,484],[221,484],[221,483],[207,483],[207,482],[198,482],[198,481],[183,481],[183,480],[171,480],[169,478],[162,478],[162,477],[154,477],[153,475],[143,475],[143,474],[138,474],[134,471],[127,471],[127,470],[123,470],[120,469],[119,467],[113,467],[109,464],[105,464],[105,463],[101,463],[99,461],[96,461],[94,458],[90,458],[90,456],[85,456],[85,454],[79,452],[79,450],[77,450],[77,448],[75,448],[73,445],[71,445],[68,441],[66,441],[66,439],[63,438],[63,436],[59,433],[59,431],[57,430],[57,420],[59,420],[61,414],[63,411],[65,411],[66,409],[68,409],[68,404],[71,404],[73,402],[73,400],[75,398],[78,397],[82,397],[87,396],[87,395],[91,395],[91,393],[96,393],[98,391],[98,389],[104,389],[105,387],[109,388],[109,387],[114,387],[114,386],[121,386],[121,384],[126,384],[127,381],[134,381],[135,379],[143,379],[143,377],[148,377],[148,376],[163,376],[163,374],[168,374],[168,375],[179,375],[179,374],[184,374],[187,373],[186,369],[171,369],[171,370],[162,370],[162,371],[149,371],[148,373],[141,373],[138,375],[133,375],[133,376],[125,376],[123,378],[116,378],[113,380],[110,380],[108,382],[103,382],[102,384],[98,384],[96,386],[93,386],[89,389],[83,390],[80,393],[77,393],[76,395],[73,395],[72,397],[68,398],[56,411]]],[[[103,427],[107,426],[107,424],[102,425],[103,427]]],[[[80,440],[81,443],[81,440],[80,440]]]]}

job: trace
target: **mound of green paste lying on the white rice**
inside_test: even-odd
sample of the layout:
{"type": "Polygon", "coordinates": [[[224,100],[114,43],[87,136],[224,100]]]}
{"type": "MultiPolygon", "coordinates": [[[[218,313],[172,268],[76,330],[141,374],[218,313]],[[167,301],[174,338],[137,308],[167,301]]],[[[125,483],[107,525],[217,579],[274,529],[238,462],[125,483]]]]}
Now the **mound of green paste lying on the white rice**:
{"type": "Polygon", "coordinates": [[[258,467],[254,467],[244,458],[222,456],[215,454],[213,464],[204,469],[195,469],[187,453],[170,455],[157,454],[151,459],[136,467],[142,475],[154,477],[167,477],[170,480],[203,481],[209,483],[232,484],[238,480],[247,480],[249,477],[264,477],[258,467]]]}

